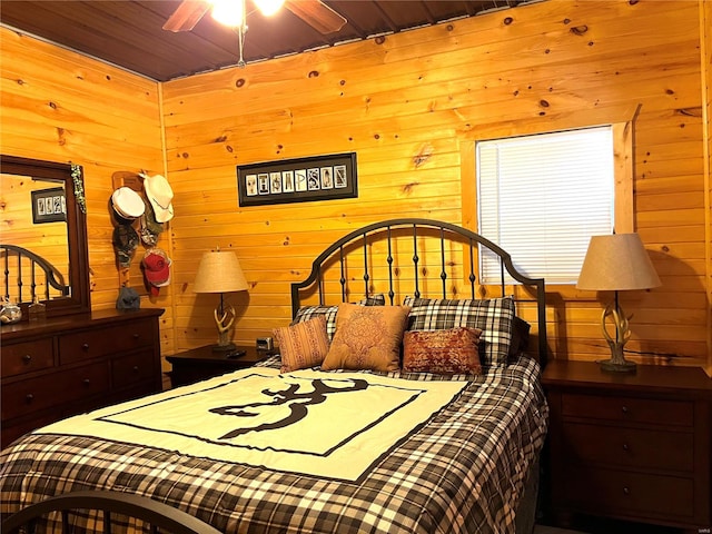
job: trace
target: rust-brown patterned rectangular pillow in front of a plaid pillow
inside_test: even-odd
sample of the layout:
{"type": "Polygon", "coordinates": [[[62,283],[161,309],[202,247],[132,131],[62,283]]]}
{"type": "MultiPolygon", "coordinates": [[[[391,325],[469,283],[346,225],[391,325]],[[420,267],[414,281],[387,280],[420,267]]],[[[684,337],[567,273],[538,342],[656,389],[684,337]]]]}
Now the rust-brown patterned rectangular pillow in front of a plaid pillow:
{"type": "Polygon", "coordinates": [[[413,373],[482,373],[479,328],[411,330],[403,336],[403,370],[413,373]]]}

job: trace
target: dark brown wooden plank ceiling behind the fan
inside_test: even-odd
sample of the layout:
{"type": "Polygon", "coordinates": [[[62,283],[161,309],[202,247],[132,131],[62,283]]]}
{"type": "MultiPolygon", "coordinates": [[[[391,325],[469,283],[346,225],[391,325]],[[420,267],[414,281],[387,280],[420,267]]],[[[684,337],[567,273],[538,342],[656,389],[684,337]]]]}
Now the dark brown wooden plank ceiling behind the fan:
{"type": "MultiPolygon", "coordinates": [[[[245,60],[249,62],[367,39],[506,9],[525,0],[325,0],[347,19],[323,34],[287,9],[265,18],[248,0],[245,60]]],[[[191,31],[161,29],[180,0],[2,0],[0,23],[157,81],[238,62],[237,33],[209,14],[191,31]]]]}

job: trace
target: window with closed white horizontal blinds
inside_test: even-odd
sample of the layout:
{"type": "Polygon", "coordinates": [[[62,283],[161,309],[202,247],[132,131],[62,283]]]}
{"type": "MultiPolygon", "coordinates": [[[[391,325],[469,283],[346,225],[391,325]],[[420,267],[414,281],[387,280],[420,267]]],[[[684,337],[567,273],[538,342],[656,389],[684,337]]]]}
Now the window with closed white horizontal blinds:
{"type": "MultiPolygon", "coordinates": [[[[613,233],[613,137],[605,126],[477,142],[479,234],[527,276],[575,283],[591,236],[613,233]]],[[[500,275],[481,255],[483,284],[500,275]]]]}

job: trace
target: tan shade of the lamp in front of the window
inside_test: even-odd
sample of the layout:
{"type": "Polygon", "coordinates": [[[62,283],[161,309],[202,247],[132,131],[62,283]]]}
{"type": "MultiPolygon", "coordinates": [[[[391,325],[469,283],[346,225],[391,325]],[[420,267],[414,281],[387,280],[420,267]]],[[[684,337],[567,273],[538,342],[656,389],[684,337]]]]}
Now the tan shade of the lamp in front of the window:
{"type": "Polygon", "coordinates": [[[576,288],[593,291],[649,289],[661,285],[637,234],[593,236],[576,288]]]}

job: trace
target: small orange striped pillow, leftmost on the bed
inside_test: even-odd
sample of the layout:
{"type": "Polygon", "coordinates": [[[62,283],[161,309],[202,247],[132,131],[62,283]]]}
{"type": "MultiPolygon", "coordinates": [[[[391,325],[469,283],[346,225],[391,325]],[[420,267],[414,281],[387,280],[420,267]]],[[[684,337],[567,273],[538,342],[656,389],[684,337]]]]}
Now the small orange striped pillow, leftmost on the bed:
{"type": "Polygon", "coordinates": [[[283,373],[322,365],[329,350],[326,318],[323,315],[294,326],[275,328],[271,332],[279,344],[283,373]]]}

